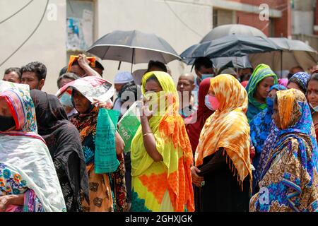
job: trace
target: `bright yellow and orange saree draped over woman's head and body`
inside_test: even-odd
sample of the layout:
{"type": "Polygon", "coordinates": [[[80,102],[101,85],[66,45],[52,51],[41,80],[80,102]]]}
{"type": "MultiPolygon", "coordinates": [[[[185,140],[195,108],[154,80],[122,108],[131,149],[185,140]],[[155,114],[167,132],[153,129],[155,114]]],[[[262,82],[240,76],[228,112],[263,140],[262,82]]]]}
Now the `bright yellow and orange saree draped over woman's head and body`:
{"type": "Polygon", "coordinates": [[[144,96],[146,81],[151,76],[155,76],[163,88],[163,92],[153,97],[157,96],[155,102],[164,101],[164,109],[149,119],[163,161],[155,162],[148,155],[139,126],[131,142],[131,211],[194,211],[190,172],[193,156],[183,119],[178,114],[177,90],[169,74],[153,71],[143,76],[141,91],[144,96]]]}

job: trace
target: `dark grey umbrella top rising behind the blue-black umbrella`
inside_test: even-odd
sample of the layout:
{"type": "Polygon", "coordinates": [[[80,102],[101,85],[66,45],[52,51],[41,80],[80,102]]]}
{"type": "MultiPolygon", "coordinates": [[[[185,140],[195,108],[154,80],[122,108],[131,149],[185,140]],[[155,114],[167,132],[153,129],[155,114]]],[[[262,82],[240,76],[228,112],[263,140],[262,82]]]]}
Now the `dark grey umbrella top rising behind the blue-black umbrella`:
{"type": "Polygon", "coordinates": [[[242,24],[228,24],[228,25],[220,25],[216,28],[213,28],[211,32],[208,32],[208,34],[204,36],[204,38],[201,40],[200,43],[216,40],[220,37],[233,35],[233,34],[245,35],[249,37],[251,36],[266,37],[266,35],[257,28],[253,28],[251,26],[242,25],[242,24]]]}

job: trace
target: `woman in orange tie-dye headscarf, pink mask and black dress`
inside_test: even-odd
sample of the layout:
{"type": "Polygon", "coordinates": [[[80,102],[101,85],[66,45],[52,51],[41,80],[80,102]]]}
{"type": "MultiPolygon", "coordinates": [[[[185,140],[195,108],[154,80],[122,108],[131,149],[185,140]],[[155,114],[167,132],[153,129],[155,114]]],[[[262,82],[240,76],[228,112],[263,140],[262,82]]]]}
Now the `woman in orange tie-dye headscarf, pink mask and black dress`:
{"type": "Polygon", "coordinates": [[[211,79],[206,120],[196,148],[192,179],[201,186],[201,211],[248,211],[252,181],[247,92],[230,75],[211,79]]]}

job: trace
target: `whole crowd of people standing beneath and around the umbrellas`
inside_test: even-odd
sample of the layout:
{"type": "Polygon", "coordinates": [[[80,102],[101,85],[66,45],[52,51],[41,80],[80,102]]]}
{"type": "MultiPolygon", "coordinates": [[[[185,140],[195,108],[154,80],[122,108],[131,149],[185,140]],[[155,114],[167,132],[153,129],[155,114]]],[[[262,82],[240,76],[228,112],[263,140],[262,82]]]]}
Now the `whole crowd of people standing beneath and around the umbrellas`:
{"type": "Polygon", "coordinates": [[[104,71],[71,56],[56,95],[38,61],[4,72],[0,212],[318,211],[317,66],[278,78],[199,57],[177,84],[160,61],[104,71]]]}

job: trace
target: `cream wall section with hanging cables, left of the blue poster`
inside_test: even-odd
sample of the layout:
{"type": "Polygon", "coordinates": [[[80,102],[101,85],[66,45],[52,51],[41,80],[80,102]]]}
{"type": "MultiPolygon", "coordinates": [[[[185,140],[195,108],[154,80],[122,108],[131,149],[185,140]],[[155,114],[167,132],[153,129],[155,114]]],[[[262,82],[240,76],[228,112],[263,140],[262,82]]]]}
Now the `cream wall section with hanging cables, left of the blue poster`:
{"type": "MultiPolygon", "coordinates": [[[[16,13],[28,4],[29,0],[1,0],[0,21],[16,13]]],[[[0,24],[0,64],[9,57],[35,30],[45,11],[45,0],[34,0],[16,16],[0,24]]],[[[66,1],[50,0],[39,28],[25,42],[16,54],[0,66],[0,78],[5,69],[11,66],[23,66],[30,61],[41,61],[47,66],[47,81],[44,90],[57,91],[57,76],[66,62],[66,1]],[[54,15],[54,13],[57,13],[54,15]]]]}

